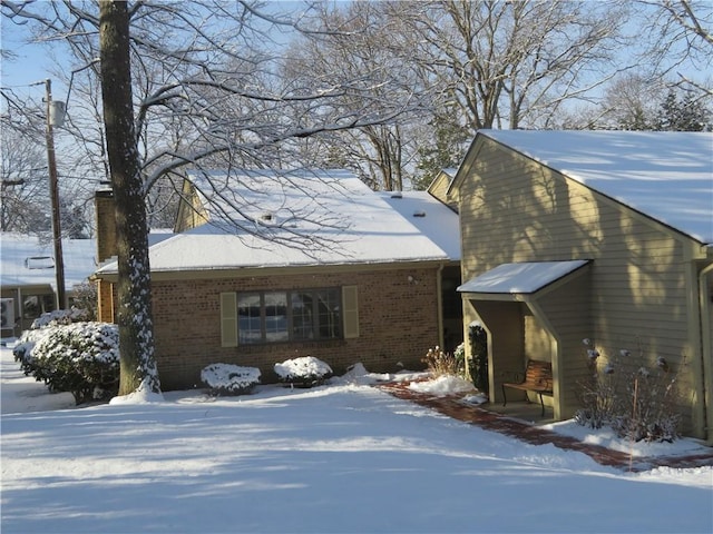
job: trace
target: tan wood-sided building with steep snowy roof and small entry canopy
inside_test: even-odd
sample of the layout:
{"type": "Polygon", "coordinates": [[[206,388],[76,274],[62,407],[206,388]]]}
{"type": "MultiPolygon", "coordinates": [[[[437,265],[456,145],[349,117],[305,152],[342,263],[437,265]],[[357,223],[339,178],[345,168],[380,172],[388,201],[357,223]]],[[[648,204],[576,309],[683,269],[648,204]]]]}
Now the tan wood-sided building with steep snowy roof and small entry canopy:
{"type": "Polygon", "coordinates": [[[712,134],[482,130],[449,195],[491,402],[502,372],[548,360],[570,417],[590,338],[629,369],[664,358],[684,432],[713,441],[712,134]]]}

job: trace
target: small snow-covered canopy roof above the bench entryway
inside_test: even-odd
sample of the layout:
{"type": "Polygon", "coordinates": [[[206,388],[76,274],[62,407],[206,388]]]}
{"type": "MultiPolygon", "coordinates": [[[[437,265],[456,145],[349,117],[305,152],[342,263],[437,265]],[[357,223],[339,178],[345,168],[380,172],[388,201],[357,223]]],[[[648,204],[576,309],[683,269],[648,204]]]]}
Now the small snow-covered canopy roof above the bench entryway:
{"type": "Polygon", "coordinates": [[[588,260],[502,264],[458,287],[460,293],[529,295],[587,265],[588,260]]]}

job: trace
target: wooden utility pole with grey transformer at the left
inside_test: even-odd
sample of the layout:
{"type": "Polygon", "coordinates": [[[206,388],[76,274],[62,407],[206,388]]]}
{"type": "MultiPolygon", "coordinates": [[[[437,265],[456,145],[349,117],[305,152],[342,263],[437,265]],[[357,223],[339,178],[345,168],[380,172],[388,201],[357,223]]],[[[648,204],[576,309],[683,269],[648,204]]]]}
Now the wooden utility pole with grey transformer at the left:
{"type": "Polygon", "coordinates": [[[67,306],[65,296],[65,260],[62,255],[62,229],[59,215],[59,187],[57,160],[55,159],[55,135],[52,128],[65,120],[65,102],[52,102],[52,80],[45,80],[47,90],[47,166],[49,168],[49,194],[52,204],[52,237],[55,243],[55,274],[57,276],[57,309],[67,306]]]}

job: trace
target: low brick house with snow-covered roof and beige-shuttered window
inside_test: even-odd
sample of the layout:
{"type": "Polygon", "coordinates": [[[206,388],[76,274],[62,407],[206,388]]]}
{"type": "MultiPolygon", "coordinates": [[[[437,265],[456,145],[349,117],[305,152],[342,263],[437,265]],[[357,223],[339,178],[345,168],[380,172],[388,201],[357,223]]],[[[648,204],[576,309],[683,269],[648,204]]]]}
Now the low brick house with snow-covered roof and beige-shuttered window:
{"type": "MultiPolygon", "coordinates": [[[[217,171],[188,174],[183,198],[177,234],[149,248],[165,389],[199,385],[214,363],[266,380],[299,356],[335,373],[422,368],[443,316],[462,323],[458,216],[427,192],[374,192],[339,170],[217,171]]],[[[116,263],[96,277],[113,320],[116,263]]]]}

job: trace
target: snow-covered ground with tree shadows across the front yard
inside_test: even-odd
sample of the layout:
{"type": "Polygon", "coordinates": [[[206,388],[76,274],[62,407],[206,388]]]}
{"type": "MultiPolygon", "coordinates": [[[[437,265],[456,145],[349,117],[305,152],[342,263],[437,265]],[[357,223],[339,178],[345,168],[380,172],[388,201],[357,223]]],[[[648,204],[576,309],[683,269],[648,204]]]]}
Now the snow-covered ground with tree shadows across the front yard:
{"type": "MultiPolygon", "coordinates": [[[[0,357],[3,534],[713,532],[713,467],[603,467],[397,399],[373,376],[75,408],[0,357]]],[[[684,448],[701,445],[655,451],[684,448]]]]}

